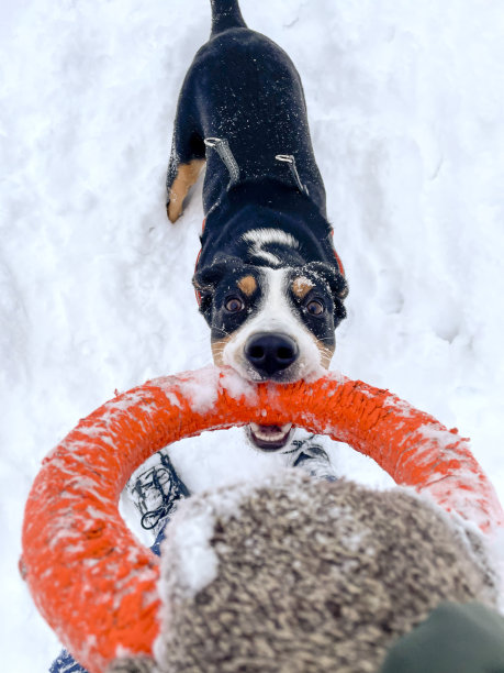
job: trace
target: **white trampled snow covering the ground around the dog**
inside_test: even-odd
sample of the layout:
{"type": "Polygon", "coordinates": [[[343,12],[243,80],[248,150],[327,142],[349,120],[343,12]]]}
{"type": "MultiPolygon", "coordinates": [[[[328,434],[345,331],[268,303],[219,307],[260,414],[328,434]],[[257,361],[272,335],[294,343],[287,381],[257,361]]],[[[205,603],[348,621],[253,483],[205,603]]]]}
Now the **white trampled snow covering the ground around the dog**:
{"type": "MultiPolygon", "coordinates": [[[[114,390],[211,360],[190,278],[197,190],[165,169],[208,0],[0,8],[2,669],[58,643],[18,576],[42,457],[114,390]]],[[[242,0],[304,81],[350,283],[334,366],[472,438],[504,500],[504,7],[501,0],[242,0]]],[[[340,472],[387,479],[348,449],[340,472]]],[[[183,442],[190,488],[270,468],[239,431],[183,442]]]]}

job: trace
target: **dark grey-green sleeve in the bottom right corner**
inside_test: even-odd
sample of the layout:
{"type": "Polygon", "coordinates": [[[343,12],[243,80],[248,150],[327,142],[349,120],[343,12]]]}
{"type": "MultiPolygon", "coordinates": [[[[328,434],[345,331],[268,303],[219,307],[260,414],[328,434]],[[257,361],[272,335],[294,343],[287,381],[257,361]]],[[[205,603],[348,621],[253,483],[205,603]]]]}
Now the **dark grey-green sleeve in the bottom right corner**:
{"type": "Polygon", "coordinates": [[[441,603],[390,649],[380,673],[504,673],[504,618],[479,603],[441,603]]]}

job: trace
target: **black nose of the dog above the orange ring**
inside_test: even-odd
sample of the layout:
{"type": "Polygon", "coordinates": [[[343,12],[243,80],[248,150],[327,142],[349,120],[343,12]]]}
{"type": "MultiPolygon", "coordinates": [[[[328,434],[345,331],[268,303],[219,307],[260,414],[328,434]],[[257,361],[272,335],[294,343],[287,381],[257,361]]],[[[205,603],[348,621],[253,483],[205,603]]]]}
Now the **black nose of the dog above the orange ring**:
{"type": "Polygon", "coordinates": [[[287,334],[260,332],[245,344],[245,356],[262,376],[273,376],[287,369],[299,355],[298,344],[287,334]]]}

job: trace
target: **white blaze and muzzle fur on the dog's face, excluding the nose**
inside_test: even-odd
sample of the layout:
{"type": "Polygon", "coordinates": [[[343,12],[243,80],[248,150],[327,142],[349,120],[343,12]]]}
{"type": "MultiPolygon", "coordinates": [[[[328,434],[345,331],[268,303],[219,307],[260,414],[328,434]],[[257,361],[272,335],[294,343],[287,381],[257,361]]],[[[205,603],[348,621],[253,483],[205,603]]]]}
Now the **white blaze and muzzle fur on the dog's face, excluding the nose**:
{"type": "Polygon", "coordinates": [[[261,375],[248,362],[245,345],[250,336],[259,332],[285,334],[298,345],[299,357],[284,369],[281,380],[293,382],[320,373],[321,351],[315,338],[295,315],[289,301],[288,274],[289,269],[285,268],[262,269],[262,299],[258,310],[233,334],[222,352],[223,364],[232,366],[250,380],[260,380],[261,375]]]}

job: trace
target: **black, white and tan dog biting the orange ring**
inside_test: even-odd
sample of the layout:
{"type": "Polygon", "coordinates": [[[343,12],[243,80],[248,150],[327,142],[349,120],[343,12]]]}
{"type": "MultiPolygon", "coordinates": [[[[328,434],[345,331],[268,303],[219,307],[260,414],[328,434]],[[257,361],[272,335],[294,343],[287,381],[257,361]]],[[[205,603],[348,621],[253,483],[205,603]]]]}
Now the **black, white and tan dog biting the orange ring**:
{"type": "MultiPolygon", "coordinates": [[[[348,285],[333,244],[300,76],[249,30],[236,0],[212,0],[212,31],[180,92],[167,214],[182,213],[206,165],[193,285],[215,364],[248,380],[292,383],[327,369],[348,285]]],[[[250,424],[264,451],[292,424],[250,424]]]]}

